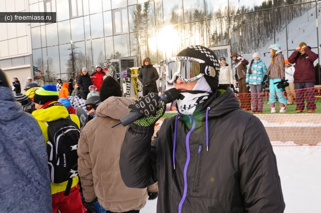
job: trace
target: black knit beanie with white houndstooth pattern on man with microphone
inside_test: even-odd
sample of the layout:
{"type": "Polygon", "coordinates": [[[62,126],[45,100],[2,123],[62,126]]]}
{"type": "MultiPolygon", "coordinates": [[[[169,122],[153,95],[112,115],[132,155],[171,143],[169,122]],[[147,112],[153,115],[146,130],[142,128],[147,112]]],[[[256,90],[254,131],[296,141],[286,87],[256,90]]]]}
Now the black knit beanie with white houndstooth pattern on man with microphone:
{"type": "Polygon", "coordinates": [[[185,56],[205,61],[205,66],[201,64],[201,73],[204,74],[205,80],[211,87],[212,92],[215,92],[218,87],[219,63],[214,52],[200,45],[192,45],[181,50],[177,57],[185,56]]]}

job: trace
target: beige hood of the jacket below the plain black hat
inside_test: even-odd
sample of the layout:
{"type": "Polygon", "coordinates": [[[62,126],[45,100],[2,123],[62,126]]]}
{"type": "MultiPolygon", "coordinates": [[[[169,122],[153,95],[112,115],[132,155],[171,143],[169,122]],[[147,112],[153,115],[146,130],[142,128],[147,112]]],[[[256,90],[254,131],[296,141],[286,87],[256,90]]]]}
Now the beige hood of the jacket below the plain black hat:
{"type": "Polygon", "coordinates": [[[133,100],[125,97],[111,96],[99,104],[96,110],[96,116],[120,120],[129,113],[128,105],[132,102],[133,100]]]}

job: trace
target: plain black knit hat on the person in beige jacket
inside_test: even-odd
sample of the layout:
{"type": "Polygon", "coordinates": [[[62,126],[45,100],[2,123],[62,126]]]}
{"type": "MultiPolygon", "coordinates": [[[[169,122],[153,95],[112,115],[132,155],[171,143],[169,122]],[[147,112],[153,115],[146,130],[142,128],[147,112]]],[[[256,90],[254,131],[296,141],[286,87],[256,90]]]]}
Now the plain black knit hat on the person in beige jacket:
{"type": "Polygon", "coordinates": [[[99,93],[100,99],[103,102],[111,96],[121,97],[120,84],[113,77],[108,76],[102,83],[99,93]]]}

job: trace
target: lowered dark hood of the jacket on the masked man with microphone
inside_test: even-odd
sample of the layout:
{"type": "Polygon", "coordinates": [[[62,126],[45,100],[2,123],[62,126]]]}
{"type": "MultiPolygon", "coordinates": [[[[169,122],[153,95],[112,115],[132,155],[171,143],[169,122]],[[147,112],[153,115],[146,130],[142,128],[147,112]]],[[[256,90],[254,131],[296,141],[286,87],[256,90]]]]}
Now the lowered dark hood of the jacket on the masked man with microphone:
{"type": "MultiPolygon", "coordinates": [[[[208,118],[220,117],[234,110],[241,109],[240,101],[235,96],[232,89],[227,88],[225,90],[220,87],[218,87],[218,90],[214,92],[207,101],[198,104],[193,114],[194,119],[197,121],[205,121],[207,108],[210,108],[208,111],[208,118]]],[[[184,115],[180,116],[187,117],[184,115]]]]}

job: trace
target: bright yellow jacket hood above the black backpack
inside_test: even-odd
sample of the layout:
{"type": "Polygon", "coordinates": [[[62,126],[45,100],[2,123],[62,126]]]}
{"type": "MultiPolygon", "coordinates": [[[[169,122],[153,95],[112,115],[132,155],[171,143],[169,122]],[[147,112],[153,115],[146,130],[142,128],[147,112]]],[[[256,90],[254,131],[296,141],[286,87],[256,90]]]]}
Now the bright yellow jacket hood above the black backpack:
{"type": "MultiPolygon", "coordinates": [[[[54,101],[58,102],[58,101],[54,101]]],[[[33,117],[38,121],[56,121],[61,118],[67,118],[69,113],[63,105],[54,105],[47,109],[35,110],[32,112],[33,117]]]]}

